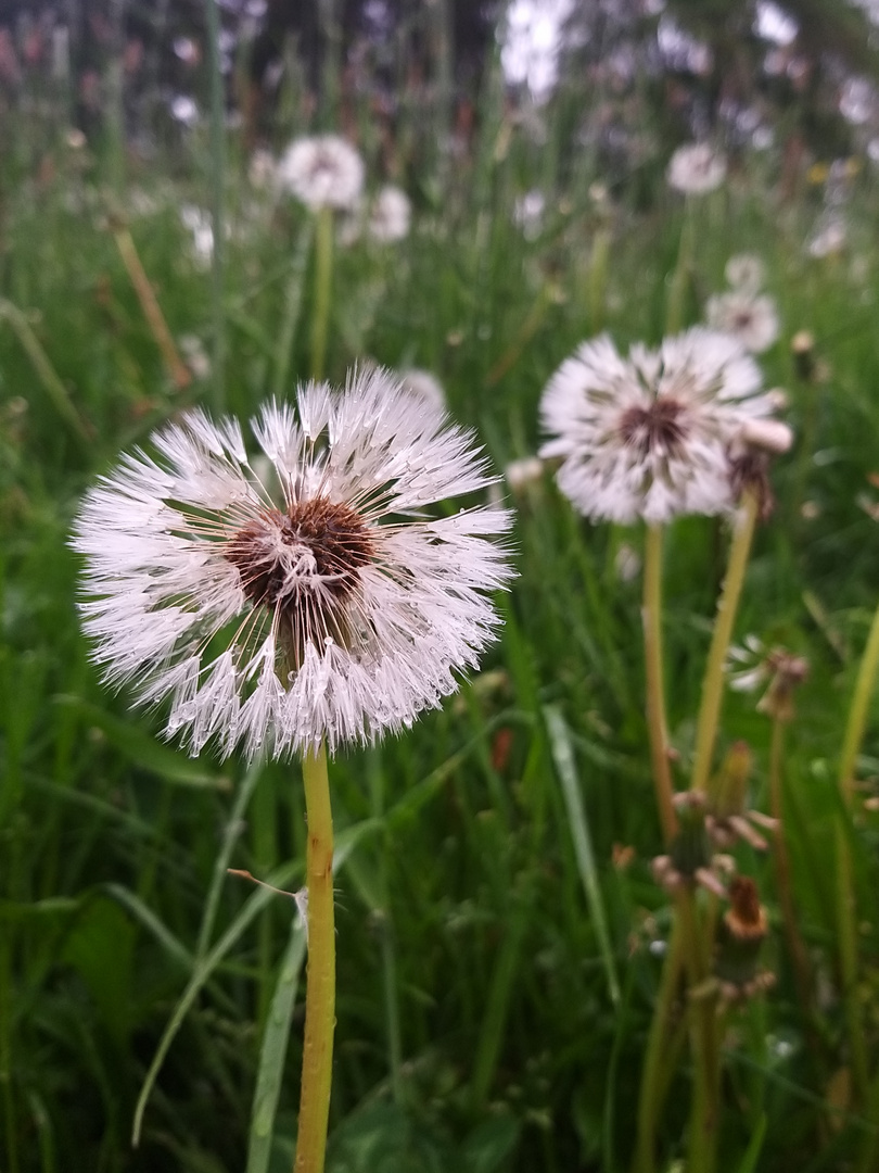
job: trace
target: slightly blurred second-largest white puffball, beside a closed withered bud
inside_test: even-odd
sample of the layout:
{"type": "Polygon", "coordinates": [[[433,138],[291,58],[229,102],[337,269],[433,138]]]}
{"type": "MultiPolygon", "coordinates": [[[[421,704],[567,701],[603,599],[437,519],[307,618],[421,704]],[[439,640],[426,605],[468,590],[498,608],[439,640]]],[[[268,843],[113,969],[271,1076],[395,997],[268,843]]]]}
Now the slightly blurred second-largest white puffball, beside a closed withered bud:
{"type": "Polygon", "coordinates": [[[694,326],[622,358],[602,334],[561,364],[540,402],[540,449],[587,517],[656,524],[735,504],[729,448],[771,415],[757,364],[729,334],[694,326]]]}

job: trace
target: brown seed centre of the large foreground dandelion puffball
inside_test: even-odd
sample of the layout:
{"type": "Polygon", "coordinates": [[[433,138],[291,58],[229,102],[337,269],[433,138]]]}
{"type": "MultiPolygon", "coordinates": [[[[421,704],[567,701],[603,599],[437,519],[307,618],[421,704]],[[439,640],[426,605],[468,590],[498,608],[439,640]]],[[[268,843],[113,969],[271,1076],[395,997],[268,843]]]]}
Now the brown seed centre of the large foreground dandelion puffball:
{"type": "Polygon", "coordinates": [[[356,586],[356,571],[375,550],[363,518],[346,504],[314,497],[286,513],[267,509],[226,543],[224,555],[241,575],[244,594],[254,605],[293,610],[299,590],[291,589],[280,547],[305,548],[314,558],[314,577],[336,602],[356,586]]]}

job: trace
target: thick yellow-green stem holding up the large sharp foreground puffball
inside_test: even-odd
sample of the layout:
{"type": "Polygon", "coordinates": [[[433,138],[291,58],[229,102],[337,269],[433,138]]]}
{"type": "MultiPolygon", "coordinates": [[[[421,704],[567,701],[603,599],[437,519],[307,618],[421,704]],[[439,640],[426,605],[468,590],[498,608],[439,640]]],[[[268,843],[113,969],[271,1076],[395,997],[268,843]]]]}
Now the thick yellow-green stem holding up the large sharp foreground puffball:
{"type": "Polygon", "coordinates": [[[327,754],[320,748],[302,760],[308,821],[308,968],[305,994],[302,1089],[294,1173],[322,1173],[333,1082],[335,1029],[335,925],[333,922],[333,814],[327,754]]]}

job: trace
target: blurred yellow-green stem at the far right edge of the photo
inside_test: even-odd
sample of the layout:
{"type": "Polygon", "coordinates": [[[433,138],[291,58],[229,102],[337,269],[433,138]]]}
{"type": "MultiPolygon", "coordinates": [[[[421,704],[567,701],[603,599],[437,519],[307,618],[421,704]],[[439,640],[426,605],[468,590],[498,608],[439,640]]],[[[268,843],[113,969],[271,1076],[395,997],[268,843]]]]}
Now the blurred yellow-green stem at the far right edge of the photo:
{"type": "MultiPolygon", "coordinates": [[[[864,731],[867,721],[867,707],[873,696],[877,667],[879,667],[879,606],[873,615],[873,622],[867,637],[867,646],[860,662],[858,679],[854,685],[854,697],[849,710],[849,720],[843,738],[843,750],[839,760],[839,795],[845,812],[851,812],[854,800],[854,768],[864,731]]],[[[864,1043],[864,1024],[858,1008],[858,928],[854,899],[854,868],[852,863],[849,828],[843,822],[844,812],[839,813],[837,825],[837,923],[839,933],[839,964],[843,977],[843,995],[845,998],[845,1017],[849,1025],[849,1044],[851,1047],[852,1073],[854,1085],[865,1104],[868,1096],[870,1077],[867,1073],[867,1055],[864,1043]]]]}

